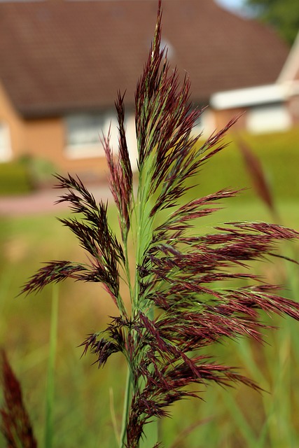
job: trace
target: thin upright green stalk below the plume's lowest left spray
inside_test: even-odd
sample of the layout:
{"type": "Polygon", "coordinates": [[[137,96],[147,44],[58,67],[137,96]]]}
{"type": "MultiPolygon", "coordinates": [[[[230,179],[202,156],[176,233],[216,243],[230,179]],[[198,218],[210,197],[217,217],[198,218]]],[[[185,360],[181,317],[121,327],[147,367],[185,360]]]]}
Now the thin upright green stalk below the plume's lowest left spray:
{"type": "Polygon", "coordinates": [[[46,419],[45,419],[45,448],[53,447],[53,410],[54,410],[54,378],[55,378],[55,357],[57,346],[57,321],[58,321],[58,286],[53,285],[52,309],[50,321],[50,343],[48,358],[48,377],[46,386],[46,419]]]}

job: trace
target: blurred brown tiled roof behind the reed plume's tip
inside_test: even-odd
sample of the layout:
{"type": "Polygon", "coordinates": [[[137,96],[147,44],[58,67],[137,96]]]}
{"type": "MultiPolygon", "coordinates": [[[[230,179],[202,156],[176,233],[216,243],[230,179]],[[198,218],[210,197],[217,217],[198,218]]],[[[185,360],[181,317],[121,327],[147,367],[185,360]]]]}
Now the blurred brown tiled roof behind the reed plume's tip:
{"type": "MultiPolygon", "coordinates": [[[[153,37],[157,0],[0,2],[0,80],[23,116],[113,104],[134,87],[153,37]]],[[[288,49],[273,31],[213,0],[164,0],[163,39],[193,99],[272,83],[288,49]]]]}

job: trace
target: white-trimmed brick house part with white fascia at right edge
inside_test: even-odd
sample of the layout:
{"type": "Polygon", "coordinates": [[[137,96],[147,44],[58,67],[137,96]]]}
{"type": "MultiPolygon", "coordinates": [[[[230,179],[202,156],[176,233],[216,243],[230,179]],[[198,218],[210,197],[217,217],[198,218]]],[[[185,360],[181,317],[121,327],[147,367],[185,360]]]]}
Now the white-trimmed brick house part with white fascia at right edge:
{"type": "Polygon", "coordinates": [[[210,105],[218,126],[244,112],[243,125],[252,133],[284,131],[298,125],[299,33],[274,83],[215,92],[210,105]]]}

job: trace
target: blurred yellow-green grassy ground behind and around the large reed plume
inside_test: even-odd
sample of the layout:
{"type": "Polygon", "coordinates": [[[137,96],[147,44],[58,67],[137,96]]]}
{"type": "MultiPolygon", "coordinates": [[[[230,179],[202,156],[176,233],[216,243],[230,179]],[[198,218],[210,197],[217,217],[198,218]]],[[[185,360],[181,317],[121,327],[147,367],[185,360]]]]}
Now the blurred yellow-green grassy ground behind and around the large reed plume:
{"type": "MultiPolygon", "coordinates": [[[[292,172],[288,179],[277,178],[279,165],[290,155],[281,154],[280,162],[273,161],[267,151],[270,149],[265,145],[267,157],[263,154],[265,160],[262,162],[271,160],[267,166],[270,167],[269,176],[274,179],[272,184],[277,185],[274,195],[279,214],[284,225],[299,230],[298,175],[292,172]],[[278,186],[278,183],[283,185],[278,186]]],[[[226,159],[223,154],[217,156],[215,162],[209,162],[196,190],[198,195],[224,186],[248,186],[249,178],[240,157],[236,148],[232,148],[226,159]]],[[[195,179],[195,183],[197,181],[195,179]]],[[[223,221],[272,221],[263,203],[255,200],[252,192],[228,200],[223,206],[225,209],[198,223],[202,232],[223,221]]],[[[113,207],[110,214],[117,225],[113,207]]],[[[53,291],[48,287],[38,295],[16,296],[20,286],[36,272],[42,261],[85,260],[85,254],[54,214],[2,217],[0,248],[0,345],[6,349],[21,379],[36,437],[42,447],[53,291]]],[[[298,249],[287,246],[284,251],[298,258],[296,252],[294,255],[298,249]]],[[[286,295],[296,298],[298,267],[286,267],[284,262],[276,262],[259,263],[256,269],[268,279],[283,283],[288,288],[286,295]]],[[[103,329],[109,321],[108,316],[116,314],[117,310],[97,284],[67,281],[60,285],[59,295],[54,446],[117,447],[112,416],[115,414],[119,427],[125,383],[123,359],[113,356],[104,370],[97,370],[90,354],[80,359],[82,348],[78,347],[85,335],[103,329]]],[[[211,353],[224,363],[240,366],[241,372],[256,379],[266,392],[257,393],[244,386],[229,391],[219,386],[203,388],[204,400],[179,402],[173,407],[172,419],[165,419],[160,425],[160,436],[166,448],[299,446],[299,323],[288,318],[275,318],[271,325],[280,329],[267,334],[265,346],[249,344],[244,339],[239,343],[215,346],[211,353]],[[178,438],[180,434],[181,439],[178,438]]]]}

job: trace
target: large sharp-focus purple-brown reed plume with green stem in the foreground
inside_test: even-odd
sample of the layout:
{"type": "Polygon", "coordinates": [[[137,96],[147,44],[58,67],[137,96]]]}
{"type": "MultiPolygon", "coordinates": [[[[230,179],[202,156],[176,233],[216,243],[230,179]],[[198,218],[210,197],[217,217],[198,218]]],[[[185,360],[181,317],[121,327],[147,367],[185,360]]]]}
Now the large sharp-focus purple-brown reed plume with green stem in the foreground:
{"type": "Polygon", "coordinates": [[[94,353],[99,367],[116,352],[127,361],[122,448],[138,448],[146,423],[167,416],[177,400],[198,396],[190,384],[241,382],[258,389],[235,367],[214,362],[207,346],[240,336],[262,342],[265,325],[259,311],[299,319],[299,305],[281,297],[278,286],[267,284],[249,267],[253,260],[277,255],[277,243],[298,239],[298,232],[258,222],[224,223],[208,234],[197,228],[198,219],[237,194],[223,189],[186,200],[187,190],[188,197],[192,193],[188,179],[223,150],[223,136],[235,120],[204,143],[194,135],[202,110],[190,102],[188,76],[181,81],[178,71],[169,68],[161,48],[161,18],[159,2],[153,44],[135,94],[136,195],[122,94],[116,101],[117,155],[109,136],[103,139],[121,239],[109,226],[106,204],[97,203],[78,178],[57,176],[58,188],[67,189],[60,202],[69,202],[71,211],[83,217],[61,221],[88,252],[89,261],[49,262],[23,289],[38,291],[70,277],[102,283],[116,303],[118,316],[106,330],[88,335],[82,346],[84,353],[94,353]],[[128,258],[129,237],[134,240],[134,265],[128,258]],[[120,293],[120,276],[127,282],[130,312],[120,293]]]}

